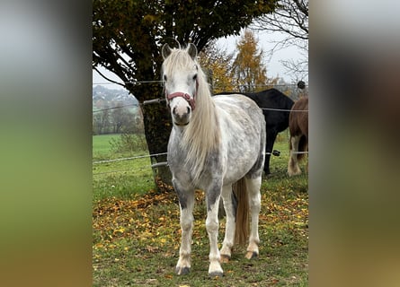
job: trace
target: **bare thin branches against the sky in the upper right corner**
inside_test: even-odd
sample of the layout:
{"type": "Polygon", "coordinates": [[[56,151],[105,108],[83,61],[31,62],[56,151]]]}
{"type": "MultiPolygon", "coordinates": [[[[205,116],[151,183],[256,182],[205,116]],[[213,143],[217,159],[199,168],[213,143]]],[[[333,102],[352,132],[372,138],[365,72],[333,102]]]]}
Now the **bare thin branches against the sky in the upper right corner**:
{"type": "Polygon", "coordinates": [[[280,32],[286,35],[277,41],[271,53],[280,48],[296,46],[303,52],[305,60],[282,60],[290,74],[296,80],[304,79],[308,74],[308,0],[280,0],[273,13],[264,14],[251,27],[255,30],[280,32]]]}

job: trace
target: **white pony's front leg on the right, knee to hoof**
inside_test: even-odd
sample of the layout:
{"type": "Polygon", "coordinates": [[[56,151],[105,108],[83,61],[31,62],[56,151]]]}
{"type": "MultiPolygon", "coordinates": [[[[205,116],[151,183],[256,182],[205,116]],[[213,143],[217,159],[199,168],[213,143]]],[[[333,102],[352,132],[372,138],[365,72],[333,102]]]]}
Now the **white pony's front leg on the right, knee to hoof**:
{"type": "Polygon", "coordinates": [[[223,270],[219,263],[218,250],[218,206],[222,187],[213,185],[207,190],[206,229],[209,234],[209,276],[222,276],[223,270]]]}

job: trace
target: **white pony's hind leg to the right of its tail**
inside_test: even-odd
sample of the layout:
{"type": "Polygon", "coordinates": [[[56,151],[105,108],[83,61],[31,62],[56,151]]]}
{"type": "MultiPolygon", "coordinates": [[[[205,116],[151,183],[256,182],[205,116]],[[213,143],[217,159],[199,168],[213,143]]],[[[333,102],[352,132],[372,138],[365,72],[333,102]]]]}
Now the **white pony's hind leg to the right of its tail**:
{"type": "Polygon", "coordinates": [[[247,252],[245,257],[251,259],[258,257],[258,244],[260,243],[260,238],[258,235],[258,218],[261,210],[261,183],[262,177],[258,178],[245,178],[245,183],[247,187],[248,199],[249,199],[249,209],[250,216],[252,218],[249,245],[247,247],[247,252]]]}

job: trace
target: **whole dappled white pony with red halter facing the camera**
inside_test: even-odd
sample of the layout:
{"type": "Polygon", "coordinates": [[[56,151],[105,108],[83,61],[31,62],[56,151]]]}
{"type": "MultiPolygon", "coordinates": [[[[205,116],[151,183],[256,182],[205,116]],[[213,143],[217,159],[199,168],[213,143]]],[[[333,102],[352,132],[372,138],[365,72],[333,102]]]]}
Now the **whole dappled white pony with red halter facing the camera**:
{"type": "Polygon", "coordinates": [[[165,98],[173,119],[168,164],[181,208],[182,244],[175,271],[186,274],[191,269],[194,190],[200,188],[207,199],[209,276],[222,276],[220,262],[229,260],[235,241],[247,237],[249,210],[252,224],[245,257],[250,259],[259,254],[265,120],[262,110],[243,95],[211,97],[193,44],[184,49],[171,49],[165,44],[162,55],[165,98]],[[236,182],[235,195],[232,186],[236,182]],[[219,251],[221,196],[227,228],[219,251]]]}

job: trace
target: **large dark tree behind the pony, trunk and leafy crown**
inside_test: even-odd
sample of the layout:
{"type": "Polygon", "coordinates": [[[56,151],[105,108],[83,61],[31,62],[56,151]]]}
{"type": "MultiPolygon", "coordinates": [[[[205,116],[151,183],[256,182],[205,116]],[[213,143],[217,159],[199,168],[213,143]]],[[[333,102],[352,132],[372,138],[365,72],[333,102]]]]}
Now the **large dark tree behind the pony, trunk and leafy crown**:
{"type": "MultiPolygon", "coordinates": [[[[237,35],[256,17],[271,13],[276,2],[93,0],[93,69],[99,72],[102,65],[117,74],[140,102],[163,97],[158,81],[165,42],[192,42],[200,51],[209,40],[237,35]]],[[[169,112],[165,105],[141,108],[149,152],[166,152],[169,112]]],[[[151,160],[165,161],[165,156],[151,160]]],[[[158,176],[168,178],[169,170],[158,170],[158,176]]]]}

